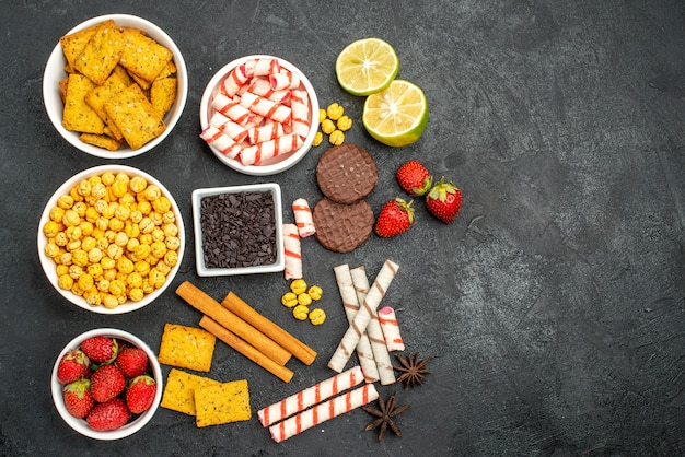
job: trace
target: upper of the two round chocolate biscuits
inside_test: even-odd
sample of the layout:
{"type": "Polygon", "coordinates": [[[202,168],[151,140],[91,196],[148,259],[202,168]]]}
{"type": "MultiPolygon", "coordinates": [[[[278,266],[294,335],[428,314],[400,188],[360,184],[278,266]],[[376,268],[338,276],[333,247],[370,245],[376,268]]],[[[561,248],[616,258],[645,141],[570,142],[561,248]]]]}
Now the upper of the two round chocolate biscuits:
{"type": "Polygon", "coordinates": [[[375,187],[379,169],[369,152],[356,144],[339,144],[318,159],[316,183],[337,203],[356,203],[375,187]]]}

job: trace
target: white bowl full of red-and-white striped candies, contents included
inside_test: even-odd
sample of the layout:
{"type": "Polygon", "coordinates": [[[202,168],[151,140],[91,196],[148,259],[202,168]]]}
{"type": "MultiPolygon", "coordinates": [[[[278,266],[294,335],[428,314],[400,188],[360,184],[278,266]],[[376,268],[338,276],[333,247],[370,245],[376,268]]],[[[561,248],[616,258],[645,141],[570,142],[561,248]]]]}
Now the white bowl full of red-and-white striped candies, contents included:
{"type": "Polygon", "coordinates": [[[200,137],[229,167],[275,175],[300,162],[318,129],[318,98],[294,65],[245,56],[211,78],[200,101],[200,137]]]}

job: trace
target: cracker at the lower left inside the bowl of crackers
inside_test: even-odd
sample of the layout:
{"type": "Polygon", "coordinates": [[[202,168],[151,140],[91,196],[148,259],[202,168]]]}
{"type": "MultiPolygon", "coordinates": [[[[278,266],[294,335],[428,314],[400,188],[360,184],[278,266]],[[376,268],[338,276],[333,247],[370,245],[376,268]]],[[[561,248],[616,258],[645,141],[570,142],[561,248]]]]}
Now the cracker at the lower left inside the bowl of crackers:
{"type": "Polygon", "coordinates": [[[82,74],[72,73],[67,82],[67,96],[62,115],[62,126],[67,130],[102,134],[105,122],[85,103],[85,95],[95,84],[82,74]]]}

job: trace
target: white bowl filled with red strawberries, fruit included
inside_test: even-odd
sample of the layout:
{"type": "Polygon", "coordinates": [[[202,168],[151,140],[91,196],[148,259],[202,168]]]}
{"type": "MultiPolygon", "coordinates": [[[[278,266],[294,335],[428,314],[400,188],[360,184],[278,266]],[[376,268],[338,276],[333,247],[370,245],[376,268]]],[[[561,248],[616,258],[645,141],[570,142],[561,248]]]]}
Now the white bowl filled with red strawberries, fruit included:
{"type": "Polygon", "coordinates": [[[95,440],[119,440],[142,429],[162,399],[162,370],[140,338],[100,328],[72,339],[51,376],[59,415],[95,440]]]}

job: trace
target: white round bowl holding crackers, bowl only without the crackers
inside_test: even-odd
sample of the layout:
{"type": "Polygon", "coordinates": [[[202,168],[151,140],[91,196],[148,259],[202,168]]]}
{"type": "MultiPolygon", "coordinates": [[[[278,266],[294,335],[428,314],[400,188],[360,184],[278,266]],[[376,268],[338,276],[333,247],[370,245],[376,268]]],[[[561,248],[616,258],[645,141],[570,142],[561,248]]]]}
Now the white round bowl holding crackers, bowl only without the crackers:
{"type": "Polygon", "coordinates": [[[67,77],[67,73],[65,72],[65,66],[67,65],[67,61],[65,59],[65,55],[59,43],[57,43],[55,49],[53,49],[53,52],[50,54],[45,66],[45,72],[43,74],[43,101],[45,103],[45,109],[47,110],[48,117],[50,118],[50,121],[53,122],[59,134],[61,134],[74,148],[97,157],[120,160],[140,155],[150,151],[162,141],[164,141],[164,139],[171,133],[171,131],[176,126],[176,122],[181,118],[181,115],[186,104],[186,98],[188,95],[188,72],[186,70],[186,65],[183,60],[183,56],[181,55],[181,50],[178,50],[178,47],[176,46],[174,40],[171,39],[171,37],[163,30],[142,17],[128,14],[102,15],[82,22],[81,24],[71,28],[69,32],[65,33],[65,35],[82,31],[90,27],[91,25],[97,24],[106,20],[114,20],[115,24],[120,26],[133,27],[144,31],[149,37],[158,42],[160,45],[165,46],[174,54],[173,61],[176,66],[176,79],[178,80],[177,92],[174,105],[164,116],[164,122],[166,124],[166,129],[164,130],[164,132],[137,150],[131,150],[130,148],[126,147],[120,148],[116,152],[112,152],[103,148],[86,144],[79,140],[79,133],[67,130],[62,125],[62,112],[65,105],[61,101],[58,85],[59,81],[67,77]]]}

